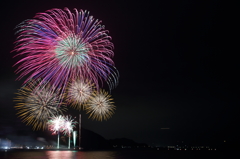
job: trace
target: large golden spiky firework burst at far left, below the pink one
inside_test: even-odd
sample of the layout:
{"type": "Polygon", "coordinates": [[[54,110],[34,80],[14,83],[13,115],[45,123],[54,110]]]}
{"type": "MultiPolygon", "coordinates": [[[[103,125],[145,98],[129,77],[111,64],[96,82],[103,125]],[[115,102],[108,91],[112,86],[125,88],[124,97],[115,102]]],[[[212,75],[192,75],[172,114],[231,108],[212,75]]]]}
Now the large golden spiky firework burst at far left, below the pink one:
{"type": "Polygon", "coordinates": [[[62,95],[49,84],[29,81],[16,94],[17,115],[26,125],[33,125],[34,130],[45,129],[49,117],[66,111],[66,106],[61,103],[62,95]]]}

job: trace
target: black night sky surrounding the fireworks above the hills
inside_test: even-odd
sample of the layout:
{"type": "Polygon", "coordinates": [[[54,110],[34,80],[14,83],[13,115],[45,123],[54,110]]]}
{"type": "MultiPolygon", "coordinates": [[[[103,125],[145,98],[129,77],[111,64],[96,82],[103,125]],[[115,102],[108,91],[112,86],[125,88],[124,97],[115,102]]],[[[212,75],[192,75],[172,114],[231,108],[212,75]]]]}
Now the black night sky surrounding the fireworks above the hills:
{"type": "Polygon", "coordinates": [[[155,145],[239,139],[236,19],[230,4],[217,0],[1,4],[0,135],[26,127],[13,109],[12,98],[23,82],[15,81],[12,67],[14,27],[38,12],[64,7],[89,10],[102,20],[112,36],[120,72],[119,85],[112,91],[115,114],[98,122],[81,112],[84,128],[106,139],[125,137],[155,145]]]}

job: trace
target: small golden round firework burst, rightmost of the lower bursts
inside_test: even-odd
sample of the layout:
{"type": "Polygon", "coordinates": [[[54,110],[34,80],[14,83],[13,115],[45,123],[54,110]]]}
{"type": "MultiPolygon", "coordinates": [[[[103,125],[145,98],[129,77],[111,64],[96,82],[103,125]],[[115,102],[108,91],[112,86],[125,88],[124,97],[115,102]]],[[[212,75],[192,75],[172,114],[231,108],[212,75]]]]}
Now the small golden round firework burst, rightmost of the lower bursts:
{"type": "Polygon", "coordinates": [[[109,119],[116,108],[112,100],[111,95],[106,91],[95,91],[86,106],[87,114],[90,114],[89,118],[99,121],[109,119]]]}

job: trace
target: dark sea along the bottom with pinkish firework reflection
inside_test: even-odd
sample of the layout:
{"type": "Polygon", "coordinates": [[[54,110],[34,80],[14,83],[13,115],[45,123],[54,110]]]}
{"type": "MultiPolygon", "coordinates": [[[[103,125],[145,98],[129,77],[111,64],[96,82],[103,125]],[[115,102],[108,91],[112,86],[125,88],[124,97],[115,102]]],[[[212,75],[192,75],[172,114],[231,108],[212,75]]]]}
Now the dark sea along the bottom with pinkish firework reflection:
{"type": "Polygon", "coordinates": [[[0,159],[225,159],[219,151],[157,151],[157,150],[0,150],[0,159]]]}

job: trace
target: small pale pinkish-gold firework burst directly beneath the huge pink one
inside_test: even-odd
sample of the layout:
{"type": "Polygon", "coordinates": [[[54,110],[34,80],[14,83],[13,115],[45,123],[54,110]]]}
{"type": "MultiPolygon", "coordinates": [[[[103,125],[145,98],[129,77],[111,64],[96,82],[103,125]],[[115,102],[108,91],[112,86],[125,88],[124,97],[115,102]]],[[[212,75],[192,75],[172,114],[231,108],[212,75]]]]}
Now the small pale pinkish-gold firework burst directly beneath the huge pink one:
{"type": "Polygon", "coordinates": [[[94,85],[86,80],[76,80],[69,84],[67,91],[67,103],[75,109],[84,108],[93,93],[94,85]]]}

